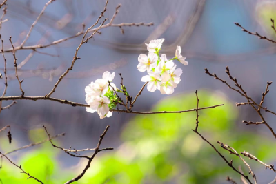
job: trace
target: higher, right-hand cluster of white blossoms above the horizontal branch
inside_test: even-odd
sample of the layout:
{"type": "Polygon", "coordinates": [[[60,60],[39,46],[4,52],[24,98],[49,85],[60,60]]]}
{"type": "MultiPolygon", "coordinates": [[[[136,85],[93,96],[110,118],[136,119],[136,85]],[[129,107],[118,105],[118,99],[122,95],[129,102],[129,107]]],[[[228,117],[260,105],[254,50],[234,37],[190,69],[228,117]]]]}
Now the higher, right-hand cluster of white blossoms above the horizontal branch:
{"type": "Polygon", "coordinates": [[[176,69],[173,60],[178,60],[184,65],[188,65],[186,57],[181,55],[181,47],[177,46],[175,57],[167,59],[166,54],[159,56],[161,45],[165,39],[156,39],[146,43],[148,55],[140,54],[138,57],[139,64],[137,69],[140,72],[148,72],[148,75],[143,76],[141,81],[148,82],[147,89],[150,92],[160,90],[161,94],[172,94],[174,88],[179,84],[182,74],[181,68],[176,69]]]}

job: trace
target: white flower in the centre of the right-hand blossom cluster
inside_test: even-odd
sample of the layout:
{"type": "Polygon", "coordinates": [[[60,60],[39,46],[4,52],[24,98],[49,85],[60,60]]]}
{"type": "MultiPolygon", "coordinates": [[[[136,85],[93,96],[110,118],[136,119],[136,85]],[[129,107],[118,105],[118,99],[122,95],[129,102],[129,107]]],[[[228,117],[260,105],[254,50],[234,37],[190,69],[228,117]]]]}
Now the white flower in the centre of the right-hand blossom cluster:
{"type": "Polygon", "coordinates": [[[170,70],[175,64],[172,61],[168,61],[166,54],[162,54],[160,59],[161,61],[155,68],[155,72],[161,75],[162,81],[168,81],[170,80],[170,70]]]}

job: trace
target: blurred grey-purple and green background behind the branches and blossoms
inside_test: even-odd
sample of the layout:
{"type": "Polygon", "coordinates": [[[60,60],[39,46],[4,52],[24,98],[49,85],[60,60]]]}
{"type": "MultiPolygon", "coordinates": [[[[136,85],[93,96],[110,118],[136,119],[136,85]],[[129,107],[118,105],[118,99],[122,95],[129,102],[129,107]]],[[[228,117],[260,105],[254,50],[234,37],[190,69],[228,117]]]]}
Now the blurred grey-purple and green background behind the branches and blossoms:
{"type": "MultiPolygon", "coordinates": [[[[47,1],[7,1],[7,13],[1,24],[4,49],[10,48],[8,38],[14,45],[20,45],[30,26],[37,19],[47,1]]],[[[195,90],[199,90],[199,106],[217,105],[223,107],[202,110],[199,116],[199,130],[219,148],[216,141],[228,143],[238,152],[246,150],[266,163],[275,163],[275,140],[266,127],[242,123],[259,121],[249,106],[235,107],[235,102],[244,102],[239,94],[230,91],[219,81],[204,74],[204,68],[228,80],[224,70],[229,66],[244,89],[253,99],[260,101],[266,88],[266,81],[275,81],[275,52],[273,43],[257,39],[242,32],[234,22],[244,28],[275,39],[270,28],[270,18],[276,18],[276,1],[110,1],[106,17],[111,18],[117,4],[121,3],[114,23],[153,22],[151,27],[105,28],[79,50],[75,67],[63,79],[52,97],[85,103],[84,88],[91,81],[101,78],[109,70],[115,72],[114,82],[124,85],[130,95],[135,96],[143,83],[137,70],[137,57],[146,54],[150,39],[164,38],[161,53],[174,57],[175,48],[181,45],[182,54],[187,57],[187,66],[177,63],[183,70],[181,83],[175,93],[166,96],[159,91],[144,92],[139,96],[133,110],[186,110],[196,108],[195,90]]],[[[82,23],[88,27],[95,23],[103,10],[105,1],[60,0],[47,8],[34,26],[26,45],[46,44],[70,37],[82,30],[82,23]]],[[[19,78],[26,96],[48,94],[59,76],[70,66],[75,49],[81,37],[43,48],[39,51],[19,50],[17,62],[30,57],[19,70],[19,78]],[[57,57],[56,55],[59,55],[57,57]]],[[[6,96],[17,96],[18,81],[14,77],[13,57],[6,53],[8,68],[8,90],[6,96]]],[[[3,58],[0,57],[3,73],[3,58]]],[[[0,79],[4,89],[4,79],[0,79]]],[[[271,85],[264,106],[275,110],[275,85],[271,85]]],[[[3,102],[8,105],[10,101],[3,102]]],[[[240,181],[240,176],[200,139],[195,128],[195,112],[184,114],[135,115],[117,114],[99,119],[97,113],[86,112],[85,108],[62,105],[53,101],[17,101],[0,114],[0,128],[10,125],[12,144],[8,144],[5,132],[0,133],[0,151],[9,152],[17,147],[36,143],[47,136],[42,129],[46,125],[50,134],[66,132],[66,136],[55,139],[61,147],[83,149],[96,147],[99,135],[106,125],[110,130],[102,147],[115,150],[99,153],[92,161],[90,170],[77,183],[227,183],[226,176],[240,181]]],[[[273,115],[265,114],[271,127],[276,128],[273,115]]],[[[227,159],[233,159],[237,167],[242,165],[235,156],[220,150],[227,159]]],[[[81,153],[82,154],[82,153],[81,153]]],[[[83,154],[90,155],[92,152],[83,154]]],[[[8,155],[12,161],[22,165],[33,176],[45,183],[64,183],[77,176],[85,167],[86,159],[68,156],[50,145],[49,142],[29,147],[8,155]]],[[[273,181],[275,174],[262,165],[247,161],[253,167],[259,183],[273,181]]],[[[0,182],[37,183],[3,159],[0,182]]]]}

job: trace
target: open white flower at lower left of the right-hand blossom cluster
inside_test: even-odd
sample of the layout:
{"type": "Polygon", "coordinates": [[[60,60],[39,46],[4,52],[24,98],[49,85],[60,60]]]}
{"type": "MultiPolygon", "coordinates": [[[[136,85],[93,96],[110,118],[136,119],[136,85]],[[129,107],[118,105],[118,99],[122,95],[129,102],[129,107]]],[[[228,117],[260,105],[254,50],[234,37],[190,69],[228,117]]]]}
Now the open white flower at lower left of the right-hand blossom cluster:
{"type": "Polygon", "coordinates": [[[150,92],[155,92],[155,90],[160,89],[161,77],[155,72],[148,72],[148,75],[143,76],[141,79],[142,82],[148,82],[147,89],[150,92]]]}

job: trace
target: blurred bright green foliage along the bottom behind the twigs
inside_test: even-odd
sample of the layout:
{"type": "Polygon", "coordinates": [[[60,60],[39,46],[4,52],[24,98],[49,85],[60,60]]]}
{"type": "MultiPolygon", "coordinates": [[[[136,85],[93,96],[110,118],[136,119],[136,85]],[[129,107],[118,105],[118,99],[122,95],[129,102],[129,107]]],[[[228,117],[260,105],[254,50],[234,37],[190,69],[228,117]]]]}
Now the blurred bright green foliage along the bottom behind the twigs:
{"type": "MultiPolygon", "coordinates": [[[[233,102],[222,94],[207,91],[199,91],[199,99],[199,107],[224,103],[222,107],[199,111],[199,132],[229,161],[233,159],[235,167],[243,165],[242,161],[221,149],[217,140],[238,152],[246,150],[263,161],[273,158],[270,147],[275,146],[275,141],[268,139],[269,135],[261,136],[249,131],[246,125],[237,127],[238,112],[233,102]]],[[[196,103],[193,92],[159,101],[152,110],[188,110],[195,108],[196,103]]],[[[239,178],[215,150],[192,131],[195,117],[196,112],[135,116],[121,133],[121,146],[115,151],[101,152],[77,183],[189,184],[215,183],[217,178],[224,179],[228,175],[239,178]]],[[[17,163],[45,183],[64,183],[85,167],[86,159],[83,159],[77,170],[63,169],[57,155],[64,153],[52,150],[55,149],[43,145],[41,149],[21,156],[17,163]]],[[[250,164],[256,166],[252,162],[250,164]]],[[[247,168],[244,167],[244,170],[247,168]]],[[[0,169],[1,181],[3,184],[37,183],[32,179],[27,181],[28,176],[19,172],[6,161],[0,169]]]]}

